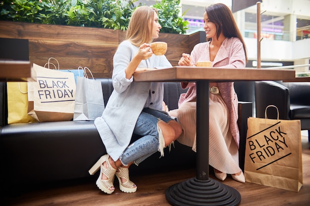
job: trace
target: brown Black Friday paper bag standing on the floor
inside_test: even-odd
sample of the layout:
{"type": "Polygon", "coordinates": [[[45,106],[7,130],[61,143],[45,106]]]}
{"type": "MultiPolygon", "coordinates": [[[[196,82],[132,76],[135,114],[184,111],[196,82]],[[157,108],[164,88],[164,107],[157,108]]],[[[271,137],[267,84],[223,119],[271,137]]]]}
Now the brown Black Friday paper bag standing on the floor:
{"type": "Polygon", "coordinates": [[[265,119],[249,118],[244,167],[247,182],[298,192],[303,185],[300,120],[267,119],[266,112],[265,119]]]}

